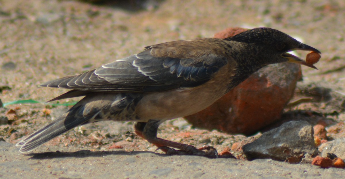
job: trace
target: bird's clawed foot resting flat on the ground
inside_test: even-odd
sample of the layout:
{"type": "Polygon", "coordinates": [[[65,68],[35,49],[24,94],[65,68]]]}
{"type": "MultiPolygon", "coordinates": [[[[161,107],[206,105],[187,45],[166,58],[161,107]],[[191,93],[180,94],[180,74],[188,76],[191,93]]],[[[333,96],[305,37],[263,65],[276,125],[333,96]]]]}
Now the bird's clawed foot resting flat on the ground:
{"type": "MultiPolygon", "coordinates": [[[[188,145],[181,150],[176,150],[167,146],[158,147],[157,150],[162,150],[167,155],[196,155],[204,156],[208,158],[218,158],[218,152],[214,147],[204,145],[201,148],[195,148],[194,146],[188,145]]],[[[155,151],[155,152],[156,152],[155,151]]]]}

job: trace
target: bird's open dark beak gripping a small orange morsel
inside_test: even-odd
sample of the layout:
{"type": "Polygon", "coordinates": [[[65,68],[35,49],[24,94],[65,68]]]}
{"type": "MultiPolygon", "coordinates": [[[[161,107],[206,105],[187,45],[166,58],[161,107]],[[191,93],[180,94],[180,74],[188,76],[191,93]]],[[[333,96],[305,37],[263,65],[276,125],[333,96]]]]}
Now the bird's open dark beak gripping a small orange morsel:
{"type": "MultiPolygon", "coordinates": [[[[288,52],[295,51],[295,50],[311,51],[311,52],[315,52],[315,53],[321,54],[321,52],[318,51],[316,48],[311,47],[311,46],[306,45],[306,44],[303,44],[303,43],[300,43],[297,48],[291,49],[288,52]]],[[[282,56],[287,58],[288,62],[290,62],[290,63],[305,65],[307,67],[311,67],[311,68],[317,69],[314,65],[308,64],[305,60],[303,60],[302,58],[296,57],[295,55],[284,53],[284,54],[282,54],[282,56]]]]}

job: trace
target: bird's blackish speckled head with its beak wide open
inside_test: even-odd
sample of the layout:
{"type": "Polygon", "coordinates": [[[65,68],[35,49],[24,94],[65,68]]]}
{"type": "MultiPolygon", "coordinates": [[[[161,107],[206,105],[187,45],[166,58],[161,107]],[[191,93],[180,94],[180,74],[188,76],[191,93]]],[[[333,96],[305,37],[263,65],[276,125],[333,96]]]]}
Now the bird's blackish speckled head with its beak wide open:
{"type": "Polygon", "coordinates": [[[317,49],[303,44],[283,32],[266,27],[250,29],[226,40],[242,43],[246,49],[254,51],[253,55],[260,56],[257,59],[262,60],[257,63],[262,66],[290,62],[317,69],[314,65],[287,52],[303,50],[321,54],[317,49]]]}

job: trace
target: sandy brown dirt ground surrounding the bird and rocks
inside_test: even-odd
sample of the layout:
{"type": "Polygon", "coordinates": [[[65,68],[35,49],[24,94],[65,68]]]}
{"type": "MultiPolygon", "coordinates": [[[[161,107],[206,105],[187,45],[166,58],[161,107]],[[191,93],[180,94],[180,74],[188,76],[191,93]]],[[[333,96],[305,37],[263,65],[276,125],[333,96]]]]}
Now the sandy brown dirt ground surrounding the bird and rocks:
{"type": "MultiPolygon", "coordinates": [[[[0,0],[0,99],[3,103],[27,99],[44,102],[67,90],[38,88],[42,82],[80,74],[136,54],[148,45],[213,37],[216,32],[237,26],[278,29],[320,50],[322,58],[315,64],[319,70],[302,67],[303,81],[298,85],[316,84],[344,98],[344,16],[343,0],[132,0],[100,4],[0,0]]],[[[299,55],[305,58],[307,53],[299,55]]],[[[302,88],[297,92],[296,98],[305,94],[302,88]]],[[[285,110],[285,116],[297,110],[316,112],[317,116],[331,121],[333,126],[329,126],[329,131],[333,132],[329,137],[339,138],[345,136],[345,115],[338,107],[337,103],[296,103],[285,110]]],[[[14,147],[22,137],[67,109],[50,104],[0,108],[1,116],[12,116],[5,124],[0,121],[0,139],[4,141],[0,142],[0,178],[333,179],[345,176],[343,169],[321,169],[309,164],[154,154],[156,147],[134,135],[130,122],[101,122],[75,128],[34,150],[35,155],[20,154],[14,147]]],[[[195,129],[183,119],[162,124],[158,136],[194,146],[212,145],[219,151],[246,138],[195,129]]]]}

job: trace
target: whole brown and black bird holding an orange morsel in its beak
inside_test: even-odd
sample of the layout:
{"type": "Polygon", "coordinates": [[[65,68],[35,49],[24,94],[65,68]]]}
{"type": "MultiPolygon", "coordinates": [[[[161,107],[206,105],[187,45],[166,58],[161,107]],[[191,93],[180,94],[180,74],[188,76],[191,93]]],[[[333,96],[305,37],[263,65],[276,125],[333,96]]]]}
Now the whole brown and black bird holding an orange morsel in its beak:
{"type": "Polygon", "coordinates": [[[80,75],[39,85],[70,91],[48,101],[84,96],[48,125],[22,139],[27,153],[68,130],[88,123],[133,121],[135,133],[167,154],[217,157],[213,147],[196,148],[157,137],[167,120],[197,113],[269,64],[296,63],[317,69],[288,52],[321,54],[293,37],[267,27],[232,37],[178,40],[145,47],[80,75]]]}

